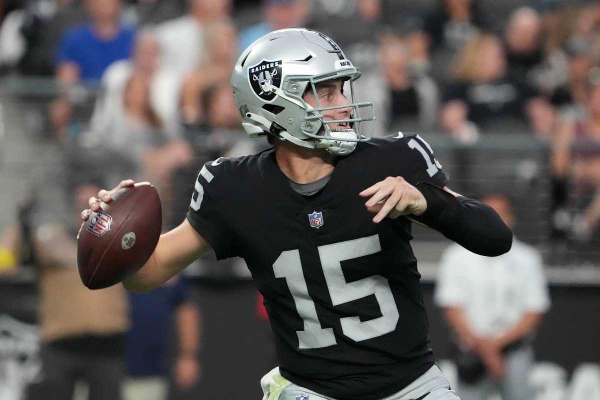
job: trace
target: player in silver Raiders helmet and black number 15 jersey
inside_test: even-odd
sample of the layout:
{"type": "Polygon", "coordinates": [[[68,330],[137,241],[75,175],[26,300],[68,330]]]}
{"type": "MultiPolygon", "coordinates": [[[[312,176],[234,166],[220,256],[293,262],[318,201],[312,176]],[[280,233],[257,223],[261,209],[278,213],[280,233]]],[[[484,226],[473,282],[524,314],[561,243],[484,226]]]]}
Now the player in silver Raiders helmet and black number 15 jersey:
{"type": "Polygon", "coordinates": [[[373,104],[353,96],[359,76],[334,41],[309,29],[248,47],[233,94],[248,135],[268,136],[272,148],[206,163],[187,219],[123,284],[152,290],[209,249],[242,257],[277,348],[265,399],[457,399],[428,345],[411,226],[484,255],[508,251],[512,233],[490,207],[446,188],[421,137],[371,139],[373,104]]]}

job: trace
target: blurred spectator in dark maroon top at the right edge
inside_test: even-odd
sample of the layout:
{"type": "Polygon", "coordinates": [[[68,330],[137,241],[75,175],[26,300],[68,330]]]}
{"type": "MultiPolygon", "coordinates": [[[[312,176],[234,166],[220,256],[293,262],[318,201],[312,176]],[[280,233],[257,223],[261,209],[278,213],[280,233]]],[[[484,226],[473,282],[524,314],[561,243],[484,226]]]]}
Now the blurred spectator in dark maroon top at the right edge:
{"type": "Polygon", "coordinates": [[[585,105],[584,115],[562,115],[551,155],[554,227],[579,238],[589,237],[600,224],[600,67],[589,71],[585,105]],[[563,227],[556,217],[568,206],[569,193],[577,202],[589,204],[571,227],[563,227]]]}

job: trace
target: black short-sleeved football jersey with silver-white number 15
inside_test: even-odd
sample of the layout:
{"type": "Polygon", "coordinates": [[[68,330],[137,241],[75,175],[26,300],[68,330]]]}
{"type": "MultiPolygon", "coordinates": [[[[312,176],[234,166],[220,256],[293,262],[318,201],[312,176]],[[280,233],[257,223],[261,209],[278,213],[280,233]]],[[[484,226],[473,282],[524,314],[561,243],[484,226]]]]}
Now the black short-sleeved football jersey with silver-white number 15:
{"type": "Polygon", "coordinates": [[[218,259],[244,258],[265,298],[281,375],[338,399],[380,399],[433,365],[411,222],[373,222],[358,194],[388,176],[443,187],[418,135],[373,138],[325,187],[296,193],[273,149],[199,173],[188,221],[218,259]]]}

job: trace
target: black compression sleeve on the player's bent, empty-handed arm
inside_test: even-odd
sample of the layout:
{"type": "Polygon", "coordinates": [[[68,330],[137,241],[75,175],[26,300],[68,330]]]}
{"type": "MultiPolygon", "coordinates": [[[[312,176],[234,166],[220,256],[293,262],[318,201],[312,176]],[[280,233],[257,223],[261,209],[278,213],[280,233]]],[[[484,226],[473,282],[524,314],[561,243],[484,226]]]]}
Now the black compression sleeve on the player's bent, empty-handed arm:
{"type": "Polygon", "coordinates": [[[427,200],[427,210],[410,218],[476,254],[493,257],[511,249],[512,231],[487,204],[467,197],[454,197],[427,182],[419,182],[415,187],[427,200]]]}

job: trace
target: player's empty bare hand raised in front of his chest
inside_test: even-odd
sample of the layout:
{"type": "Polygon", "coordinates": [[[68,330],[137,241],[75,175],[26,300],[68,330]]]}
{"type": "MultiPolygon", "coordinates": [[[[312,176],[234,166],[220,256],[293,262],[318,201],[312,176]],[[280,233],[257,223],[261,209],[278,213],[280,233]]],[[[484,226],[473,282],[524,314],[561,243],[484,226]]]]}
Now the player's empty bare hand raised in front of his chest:
{"type": "Polygon", "coordinates": [[[363,190],[359,196],[371,196],[365,206],[369,212],[377,213],[373,218],[376,224],[387,215],[392,219],[401,215],[421,215],[427,209],[423,194],[401,176],[388,176],[363,190]]]}

